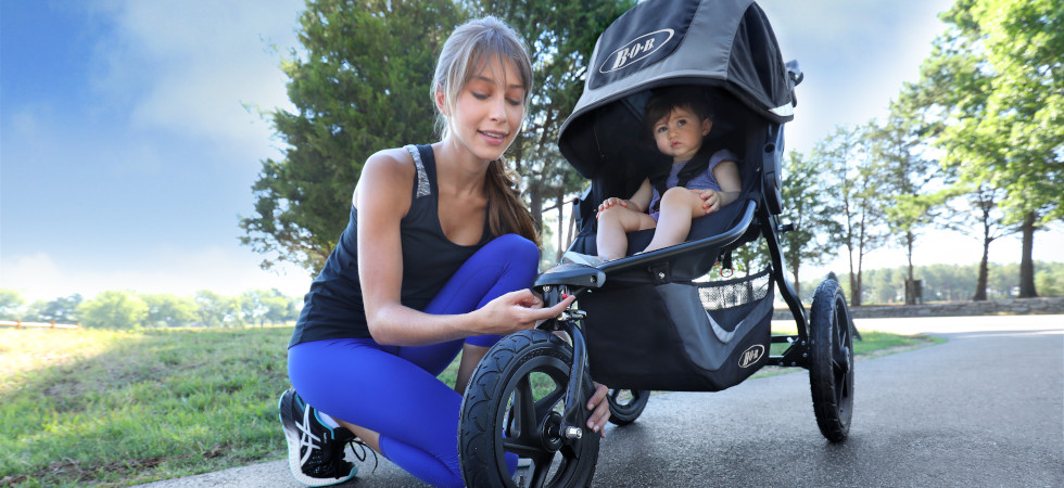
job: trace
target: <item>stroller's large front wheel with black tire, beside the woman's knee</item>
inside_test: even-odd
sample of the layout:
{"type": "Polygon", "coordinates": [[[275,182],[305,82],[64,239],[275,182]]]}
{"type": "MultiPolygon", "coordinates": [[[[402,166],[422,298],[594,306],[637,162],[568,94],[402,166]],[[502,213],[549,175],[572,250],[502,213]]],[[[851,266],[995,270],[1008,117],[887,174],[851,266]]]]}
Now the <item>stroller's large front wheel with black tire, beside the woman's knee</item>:
{"type": "MultiPolygon", "coordinates": [[[[558,432],[571,368],[572,346],[541,330],[510,334],[487,351],[461,400],[458,457],[466,486],[518,486],[506,467],[506,452],[531,461],[523,473],[527,486],[591,485],[598,434],[583,429],[566,444],[558,432]]],[[[580,404],[593,393],[585,371],[580,404]]],[[[590,412],[580,412],[583,427],[590,412]]]]}

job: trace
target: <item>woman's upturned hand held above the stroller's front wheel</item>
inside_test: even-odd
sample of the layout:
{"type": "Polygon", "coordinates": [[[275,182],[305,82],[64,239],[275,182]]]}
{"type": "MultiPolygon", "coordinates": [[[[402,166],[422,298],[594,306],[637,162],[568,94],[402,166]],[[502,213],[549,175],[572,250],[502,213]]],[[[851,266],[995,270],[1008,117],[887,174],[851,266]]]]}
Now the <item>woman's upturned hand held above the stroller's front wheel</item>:
{"type": "Polygon", "coordinates": [[[543,299],[531,290],[518,290],[491,300],[474,313],[480,313],[479,330],[473,334],[506,335],[511,332],[532,329],[537,321],[554,319],[569,308],[575,300],[569,296],[554,307],[543,308],[543,299]]]}

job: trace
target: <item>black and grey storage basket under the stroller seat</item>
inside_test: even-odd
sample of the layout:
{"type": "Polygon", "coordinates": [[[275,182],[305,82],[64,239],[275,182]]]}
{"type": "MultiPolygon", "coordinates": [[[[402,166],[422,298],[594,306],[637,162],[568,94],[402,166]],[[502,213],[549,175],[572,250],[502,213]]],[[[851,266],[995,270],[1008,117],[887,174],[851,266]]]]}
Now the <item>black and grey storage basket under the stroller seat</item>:
{"type": "Polygon", "coordinates": [[[592,376],[611,388],[719,391],[769,359],[771,269],[729,281],[607,286],[580,298],[592,376]]]}

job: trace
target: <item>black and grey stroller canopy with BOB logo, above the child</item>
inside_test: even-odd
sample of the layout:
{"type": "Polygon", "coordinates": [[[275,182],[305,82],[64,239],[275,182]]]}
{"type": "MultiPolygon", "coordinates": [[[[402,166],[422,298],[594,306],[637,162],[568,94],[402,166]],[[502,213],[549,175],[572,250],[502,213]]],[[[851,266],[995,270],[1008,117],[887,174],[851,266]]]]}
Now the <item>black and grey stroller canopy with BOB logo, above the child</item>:
{"type": "Polygon", "coordinates": [[[637,140],[643,134],[642,101],[624,100],[669,85],[717,87],[756,116],[789,121],[794,82],[780,54],[764,12],[752,0],[648,0],[617,18],[598,38],[587,66],[584,92],[561,127],[559,146],[586,178],[599,162],[582,160],[587,144],[607,139],[637,140]],[[628,102],[628,113],[610,107],[628,102]],[[598,112],[598,113],[596,113],[598,112]],[[610,137],[604,138],[610,124],[610,137]],[[618,117],[634,117],[625,123],[618,117]],[[616,124],[615,124],[616,123],[616,124]],[[637,131],[632,133],[632,131],[637,131]],[[578,147],[583,145],[584,147],[578,147]]]}

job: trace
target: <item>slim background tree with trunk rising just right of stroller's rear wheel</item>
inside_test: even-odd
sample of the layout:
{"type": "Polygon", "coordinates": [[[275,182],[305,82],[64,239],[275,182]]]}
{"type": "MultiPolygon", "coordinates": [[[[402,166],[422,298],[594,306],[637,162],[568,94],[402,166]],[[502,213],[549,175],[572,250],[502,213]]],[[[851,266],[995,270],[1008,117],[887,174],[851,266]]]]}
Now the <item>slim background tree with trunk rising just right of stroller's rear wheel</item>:
{"type": "Polygon", "coordinates": [[[840,126],[819,141],[812,158],[824,165],[824,177],[833,189],[832,211],[841,228],[850,268],[850,304],[861,305],[864,256],[883,245],[882,180],[867,157],[867,133],[872,125],[840,126]],[[856,262],[854,262],[856,259],[856,262]]]}

